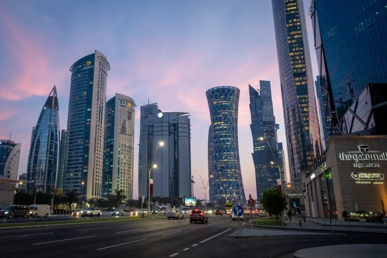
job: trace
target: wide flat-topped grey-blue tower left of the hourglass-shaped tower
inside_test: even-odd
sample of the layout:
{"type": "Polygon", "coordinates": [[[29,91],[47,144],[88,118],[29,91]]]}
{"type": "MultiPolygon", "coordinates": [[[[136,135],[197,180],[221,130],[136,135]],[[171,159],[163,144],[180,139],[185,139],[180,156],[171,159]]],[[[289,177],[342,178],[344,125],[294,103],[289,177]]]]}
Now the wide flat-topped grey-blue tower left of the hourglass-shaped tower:
{"type": "Polygon", "coordinates": [[[156,103],[141,106],[140,113],[138,196],[179,203],[179,198],[192,195],[189,115],[163,113],[156,103]]]}

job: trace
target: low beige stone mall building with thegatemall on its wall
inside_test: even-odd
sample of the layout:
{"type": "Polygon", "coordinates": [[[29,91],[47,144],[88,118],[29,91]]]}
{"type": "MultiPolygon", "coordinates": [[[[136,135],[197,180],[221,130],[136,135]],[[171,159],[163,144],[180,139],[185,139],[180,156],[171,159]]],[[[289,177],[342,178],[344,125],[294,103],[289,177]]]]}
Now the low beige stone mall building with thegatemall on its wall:
{"type": "Polygon", "coordinates": [[[303,173],[305,210],[311,217],[387,209],[387,135],[340,135],[328,141],[325,161],[303,173]],[[386,204],[386,208],[385,205],[386,204]]]}

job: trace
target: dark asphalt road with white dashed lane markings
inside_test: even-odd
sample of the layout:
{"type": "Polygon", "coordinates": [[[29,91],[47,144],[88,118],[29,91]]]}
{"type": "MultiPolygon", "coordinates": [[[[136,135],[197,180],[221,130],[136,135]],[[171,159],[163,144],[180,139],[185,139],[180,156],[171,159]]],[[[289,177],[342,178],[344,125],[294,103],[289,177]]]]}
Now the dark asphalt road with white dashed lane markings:
{"type": "MultiPolygon", "coordinates": [[[[134,220],[0,230],[1,257],[50,258],[291,258],[299,249],[338,244],[385,244],[384,234],[228,238],[239,229],[229,216],[208,223],[134,220]]],[[[242,225],[242,227],[244,227],[242,225]]],[[[262,229],[265,230],[265,229],[262,229]]]]}

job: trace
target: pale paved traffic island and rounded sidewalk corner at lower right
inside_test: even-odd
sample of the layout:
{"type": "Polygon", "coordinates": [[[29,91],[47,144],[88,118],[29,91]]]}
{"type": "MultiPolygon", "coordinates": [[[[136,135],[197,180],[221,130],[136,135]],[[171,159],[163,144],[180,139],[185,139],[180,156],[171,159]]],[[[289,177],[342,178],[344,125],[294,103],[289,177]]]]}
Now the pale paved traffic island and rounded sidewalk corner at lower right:
{"type": "MultiPolygon", "coordinates": [[[[281,236],[321,236],[321,235],[344,235],[324,232],[308,232],[303,230],[277,230],[266,228],[241,228],[229,235],[229,238],[260,238],[281,236]]],[[[295,258],[335,258],[335,257],[386,257],[387,245],[335,245],[315,248],[300,249],[293,254],[295,258]]]]}

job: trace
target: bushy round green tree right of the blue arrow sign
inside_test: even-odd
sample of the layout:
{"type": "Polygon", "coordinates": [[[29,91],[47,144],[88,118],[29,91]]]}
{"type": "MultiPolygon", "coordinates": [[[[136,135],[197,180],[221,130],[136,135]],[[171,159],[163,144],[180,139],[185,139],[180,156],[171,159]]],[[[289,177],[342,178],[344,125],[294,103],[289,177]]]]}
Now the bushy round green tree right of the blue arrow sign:
{"type": "Polygon", "coordinates": [[[287,204],[286,196],[282,195],[278,188],[262,190],[260,203],[262,204],[263,209],[270,215],[275,215],[277,221],[287,204]]]}

